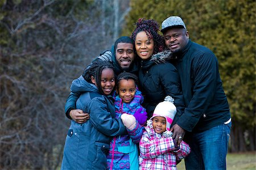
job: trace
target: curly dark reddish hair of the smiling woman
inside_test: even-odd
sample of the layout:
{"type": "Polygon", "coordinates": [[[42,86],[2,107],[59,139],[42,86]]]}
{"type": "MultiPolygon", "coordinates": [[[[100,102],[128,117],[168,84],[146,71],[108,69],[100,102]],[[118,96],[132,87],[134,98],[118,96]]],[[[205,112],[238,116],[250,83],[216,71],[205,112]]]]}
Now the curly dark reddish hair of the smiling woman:
{"type": "Polygon", "coordinates": [[[153,54],[162,52],[163,50],[167,49],[163,36],[158,33],[159,24],[155,22],[155,20],[139,18],[138,22],[135,23],[135,25],[136,25],[136,28],[131,34],[131,39],[135,41],[137,34],[139,32],[144,31],[147,34],[148,40],[151,40],[151,39],[154,40],[153,54]]]}

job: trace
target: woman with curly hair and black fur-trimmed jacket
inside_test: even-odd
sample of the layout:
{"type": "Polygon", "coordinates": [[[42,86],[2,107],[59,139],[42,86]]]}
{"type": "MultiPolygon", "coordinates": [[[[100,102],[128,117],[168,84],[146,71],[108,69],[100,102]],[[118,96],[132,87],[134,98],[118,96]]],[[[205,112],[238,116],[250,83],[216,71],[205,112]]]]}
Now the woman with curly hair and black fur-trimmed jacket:
{"type": "Polygon", "coordinates": [[[184,112],[183,94],[175,66],[164,60],[170,56],[170,52],[166,51],[164,38],[158,31],[159,24],[155,20],[141,18],[131,35],[140,63],[139,89],[144,95],[143,106],[148,118],[152,117],[156,105],[164,101],[164,97],[174,98],[177,107],[174,125],[184,112]]]}

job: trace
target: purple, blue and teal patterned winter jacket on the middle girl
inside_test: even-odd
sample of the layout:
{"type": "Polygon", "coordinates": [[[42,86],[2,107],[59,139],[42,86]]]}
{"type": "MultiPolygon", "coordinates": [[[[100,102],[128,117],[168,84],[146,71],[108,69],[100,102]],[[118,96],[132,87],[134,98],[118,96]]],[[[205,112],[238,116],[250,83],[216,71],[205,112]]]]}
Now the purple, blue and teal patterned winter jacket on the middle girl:
{"type": "Polygon", "coordinates": [[[122,99],[114,94],[115,118],[121,117],[123,113],[132,114],[137,124],[133,130],[127,129],[127,135],[119,135],[110,142],[107,154],[108,169],[138,169],[137,145],[143,134],[143,125],[147,120],[146,109],[142,107],[143,96],[141,91],[135,92],[134,99],[130,103],[123,103],[122,99]]]}

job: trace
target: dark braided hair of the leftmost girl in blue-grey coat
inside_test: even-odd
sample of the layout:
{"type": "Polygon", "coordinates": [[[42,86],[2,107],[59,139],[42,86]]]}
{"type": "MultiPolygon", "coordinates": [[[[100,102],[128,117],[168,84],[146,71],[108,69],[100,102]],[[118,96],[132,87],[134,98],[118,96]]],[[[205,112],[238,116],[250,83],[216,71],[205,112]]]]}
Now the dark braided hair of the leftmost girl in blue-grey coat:
{"type": "Polygon", "coordinates": [[[89,82],[93,84],[92,82],[92,76],[94,77],[96,81],[96,86],[98,88],[98,91],[100,91],[101,94],[104,94],[101,88],[101,73],[104,69],[114,69],[113,65],[109,61],[102,61],[100,59],[92,62],[88,67],[85,68],[84,72],[82,73],[82,76],[86,80],[86,82],[89,82]]]}

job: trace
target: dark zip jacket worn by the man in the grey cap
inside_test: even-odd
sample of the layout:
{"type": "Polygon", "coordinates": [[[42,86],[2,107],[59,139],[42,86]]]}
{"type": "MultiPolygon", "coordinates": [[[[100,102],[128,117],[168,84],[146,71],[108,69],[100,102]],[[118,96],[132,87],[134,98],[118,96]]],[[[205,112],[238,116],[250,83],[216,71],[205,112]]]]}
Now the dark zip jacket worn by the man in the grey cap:
{"type": "MultiPolygon", "coordinates": [[[[175,54],[174,54],[175,55],[175,54]]],[[[205,46],[189,40],[176,54],[185,111],[177,124],[187,131],[200,132],[230,119],[229,105],[222,88],[218,61],[205,46]]]]}

